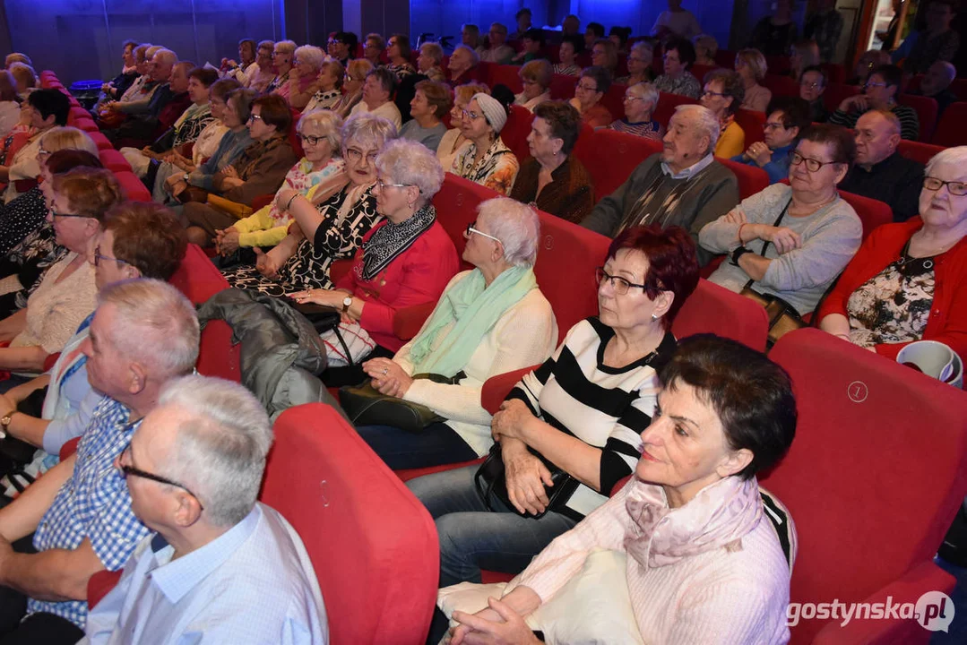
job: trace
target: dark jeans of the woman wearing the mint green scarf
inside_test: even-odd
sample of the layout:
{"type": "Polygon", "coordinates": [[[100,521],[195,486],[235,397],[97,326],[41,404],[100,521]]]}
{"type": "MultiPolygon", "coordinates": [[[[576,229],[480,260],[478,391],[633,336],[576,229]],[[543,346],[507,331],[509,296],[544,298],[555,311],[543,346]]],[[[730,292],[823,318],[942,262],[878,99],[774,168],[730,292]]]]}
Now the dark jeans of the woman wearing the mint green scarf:
{"type": "Polygon", "coordinates": [[[362,425],[356,431],[393,470],[427,468],[477,458],[477,453],[454,432],[454,428],[443,423],[428,425],[419,434],[392,425],[362,425]]]}

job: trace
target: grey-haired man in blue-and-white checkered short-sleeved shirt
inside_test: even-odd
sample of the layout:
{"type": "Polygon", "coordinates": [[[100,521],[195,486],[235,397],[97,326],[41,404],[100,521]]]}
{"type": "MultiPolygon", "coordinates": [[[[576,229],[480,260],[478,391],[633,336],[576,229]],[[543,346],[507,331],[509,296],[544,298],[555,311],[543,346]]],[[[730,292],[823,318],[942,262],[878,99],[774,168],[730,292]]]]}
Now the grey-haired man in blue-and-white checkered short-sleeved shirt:
{"type": "Polygon", "coordinates": [[[121,569],[149,533],[115,459],[164,386],[190,373],[198,356],[194,307],[170,284],[117,282],[99,300],[81,350],[91,386],[106,397],[76,453],[0,509],[5,643],[75,643],[84,635],[88,579],[121,569]]]}

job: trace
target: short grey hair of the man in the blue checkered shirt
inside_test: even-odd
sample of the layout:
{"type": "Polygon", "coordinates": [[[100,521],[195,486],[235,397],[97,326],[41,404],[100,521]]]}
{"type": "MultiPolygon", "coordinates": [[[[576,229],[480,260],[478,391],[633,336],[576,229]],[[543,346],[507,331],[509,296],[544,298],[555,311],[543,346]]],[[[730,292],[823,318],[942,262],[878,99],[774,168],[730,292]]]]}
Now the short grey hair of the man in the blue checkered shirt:
{"type": "Polygon", "coordinates": [[[156,380],[188,374],[198,360],[201,332],[194,306],[181,291],[159,279],[108,284],[98,294],[113,305],[116,318],[108,336],[126,358],[151,370],[156,380]]]}

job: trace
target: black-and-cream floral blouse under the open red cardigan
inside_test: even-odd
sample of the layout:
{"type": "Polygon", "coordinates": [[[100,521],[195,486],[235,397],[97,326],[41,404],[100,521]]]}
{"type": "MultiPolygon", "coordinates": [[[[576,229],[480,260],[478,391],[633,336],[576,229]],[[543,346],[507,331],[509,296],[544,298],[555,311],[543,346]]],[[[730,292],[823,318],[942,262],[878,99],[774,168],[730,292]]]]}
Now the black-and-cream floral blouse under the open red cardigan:
{"type": "Polygon", "coordinates": [[[866,280],[846,301],[849,339],[862,347],[920,340],[933,307],[932,257],[898,259],[866,280]]]}

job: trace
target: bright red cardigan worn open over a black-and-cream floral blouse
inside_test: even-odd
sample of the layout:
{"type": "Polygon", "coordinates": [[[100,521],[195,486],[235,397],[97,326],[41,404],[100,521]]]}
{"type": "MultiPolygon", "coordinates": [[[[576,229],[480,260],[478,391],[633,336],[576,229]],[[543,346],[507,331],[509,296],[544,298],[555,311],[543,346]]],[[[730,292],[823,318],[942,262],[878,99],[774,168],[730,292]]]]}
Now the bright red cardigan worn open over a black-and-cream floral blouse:
{"type": "MultiPolygon", "coordinates": [[[[836,287],[823,301],[819,320],[831,313],[847,316],[846,302],[864,282],[894,262],[907,240],[921,229],[919,217],[902,223],[878,226],[849,263],[836,287]]],[[[939,340],[961,357],[967,357],[967,238],[934,259],[933,308],[923,330],[923,340],[939,340]]],[[[874,345],[876,353],[895,360],[908,343],[874,345]]]]}

